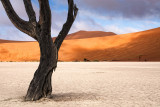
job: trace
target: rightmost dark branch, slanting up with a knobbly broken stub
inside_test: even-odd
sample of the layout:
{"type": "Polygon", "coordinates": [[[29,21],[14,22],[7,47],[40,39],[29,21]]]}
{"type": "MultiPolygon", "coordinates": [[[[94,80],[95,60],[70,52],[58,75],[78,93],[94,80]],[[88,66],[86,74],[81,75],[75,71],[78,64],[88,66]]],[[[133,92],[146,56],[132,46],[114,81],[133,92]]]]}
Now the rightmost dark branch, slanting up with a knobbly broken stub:
{"type": "Polygon", "coordinates": [[[63,40],[65,39],[65,37],[67,36],[73,22],[75,21],[75,18],[77,16],[78,13],[78,8],[77,6],[74,4],[73,0],[68,0],[68,17],[67,17],[67,21],[66,23],[63,25],[62,30],[60,31],[58,37],[56,38],[54,44],[57,47],[57,50],[59,51],[60,46],[63,42],[63,40]]]}

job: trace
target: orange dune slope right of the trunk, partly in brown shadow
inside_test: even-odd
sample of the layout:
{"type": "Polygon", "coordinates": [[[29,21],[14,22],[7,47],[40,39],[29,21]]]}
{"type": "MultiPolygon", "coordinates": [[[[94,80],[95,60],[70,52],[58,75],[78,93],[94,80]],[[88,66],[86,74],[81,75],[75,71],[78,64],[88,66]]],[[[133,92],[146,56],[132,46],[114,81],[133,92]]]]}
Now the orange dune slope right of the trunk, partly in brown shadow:
{"type": "Polygon", "coordinates": [[[160,28],[116,36],[66,40],[63,61],[160,61],[160,28]]]}

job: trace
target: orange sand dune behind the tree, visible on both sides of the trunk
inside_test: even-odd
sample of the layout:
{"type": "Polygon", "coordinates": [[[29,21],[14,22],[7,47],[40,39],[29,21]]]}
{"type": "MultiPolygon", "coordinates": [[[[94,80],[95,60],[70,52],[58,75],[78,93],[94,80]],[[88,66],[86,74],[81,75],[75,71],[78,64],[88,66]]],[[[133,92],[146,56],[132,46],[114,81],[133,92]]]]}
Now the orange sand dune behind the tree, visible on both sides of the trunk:
{"type": "MultiPolygon", "coordinates": [[[[0,43],[0,61],[38,61],[39,56],[37,42],[0,43]]],[[[114,36],[68,39],[60,48],[59,60],[160,61],[160,28],[114,36]]]]}

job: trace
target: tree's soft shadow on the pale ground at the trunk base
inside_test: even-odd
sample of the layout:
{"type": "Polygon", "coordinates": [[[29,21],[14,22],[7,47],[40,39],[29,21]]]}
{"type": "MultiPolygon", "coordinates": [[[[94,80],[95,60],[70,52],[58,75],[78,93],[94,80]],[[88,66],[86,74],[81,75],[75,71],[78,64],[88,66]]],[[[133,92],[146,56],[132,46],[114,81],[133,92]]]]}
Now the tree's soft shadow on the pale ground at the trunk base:
{"type": "MultiPolygon", "coordinates": [[[[85,100],[98,100],[98,95],[95,93],[55,93],[51,95],[49,98],[42,98],[37,101],[31,101],[31,103],[44,103],[44,102],[68,102],[68,101],[85,101],[85,100]]],[[[18,98],[7,98],[0,100],[1,102],[23,102],[28,103],[30,101],[25,101],[25,96],[18,98]]]]}

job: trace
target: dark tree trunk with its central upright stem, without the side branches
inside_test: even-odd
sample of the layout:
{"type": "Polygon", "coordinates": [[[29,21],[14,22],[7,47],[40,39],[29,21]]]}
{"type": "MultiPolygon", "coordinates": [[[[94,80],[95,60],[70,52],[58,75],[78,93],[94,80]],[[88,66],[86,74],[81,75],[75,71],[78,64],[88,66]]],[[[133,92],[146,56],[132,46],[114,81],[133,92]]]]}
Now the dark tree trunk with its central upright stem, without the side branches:
{"type": "MultiPolygon", "coordinates": [[[[52,72],[57,67],[57,47],[53,44],[51,38],[51,10],[49,2],[48,0],[39,0],[39,5],[40,17],[37,23],[36,37],[38,38],[41,57],[39,67],[34,74],[25,97],[25,100],[29,101],[35,101],[51,95],[52,72]]],[[[27,10],[29,8],[26,8],[27,10]]],[[[28,16],[31,18],[33,15],[30,14],[28,16]]]]}

